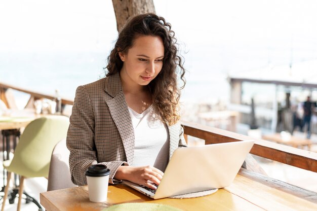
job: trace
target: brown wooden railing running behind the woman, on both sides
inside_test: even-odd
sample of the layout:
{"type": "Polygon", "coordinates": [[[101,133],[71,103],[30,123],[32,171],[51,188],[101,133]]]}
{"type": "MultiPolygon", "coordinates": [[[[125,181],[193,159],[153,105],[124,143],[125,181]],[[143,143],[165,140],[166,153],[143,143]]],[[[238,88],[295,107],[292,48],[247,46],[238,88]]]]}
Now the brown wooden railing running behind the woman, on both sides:
{"type": "MultiPolygon", "coordinates": [[[[37,92],[21,89],[18,87],[10,86],[7,84],[0,83],[0,98],[6,103],[10,104],[10,97],[8,97],[8,90],[14,89],[24,93],[30,94],[29,103],[38,98],[53,99],[54,96],[40,94],[37,92]]],[[[62,99],[63,104],[73,104],[72,100],[62,99]]],[[[205,144],[216,144],[225,142],[236,142],[242,140],[251,140],[246,135],[237,134],[234,132],[213,128],[210,126],[204,126],[192,122],[182,122],[184,127],[184,134],[190,135],[205,140],[205,144]]],[[[256,139],[255,145],[251,152],[253,155],[257,155],[270,160],[285,163],[291,166],[296,166],[305,170],[317,172],[317,153],[305,151],[285,145],[275,144],[262,139],[256,139]]]]}

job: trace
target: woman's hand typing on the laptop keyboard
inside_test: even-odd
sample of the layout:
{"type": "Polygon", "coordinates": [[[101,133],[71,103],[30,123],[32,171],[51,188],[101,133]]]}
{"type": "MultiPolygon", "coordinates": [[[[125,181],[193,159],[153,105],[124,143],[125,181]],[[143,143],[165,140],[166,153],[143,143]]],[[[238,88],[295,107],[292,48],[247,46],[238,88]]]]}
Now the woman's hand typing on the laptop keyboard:
{"type": "Polygon", "coordinates": [[[145,187],[156,189],[159,185],[164,173],[153,166],[120,166],[114,178],[117,180],[129,180],[133,183],[143,185],[145,187]]]}

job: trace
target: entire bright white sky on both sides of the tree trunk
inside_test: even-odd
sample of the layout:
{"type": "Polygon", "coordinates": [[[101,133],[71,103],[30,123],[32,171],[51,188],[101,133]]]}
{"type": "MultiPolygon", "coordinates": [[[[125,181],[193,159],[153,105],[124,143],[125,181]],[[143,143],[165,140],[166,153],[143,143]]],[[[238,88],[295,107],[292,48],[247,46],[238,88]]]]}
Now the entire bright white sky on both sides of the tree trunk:
{"type": "MultiPolygon", "coordinates": [[[[154,1],[187,45],[302,48],[315,52],[315,1],[154,1]]],[[[110,0],[11,0],[0,3],[2,51],[102,49],[116,38],[110,0]],[[106,37],[101,37],[106,36],[106,37]],[[97,41],[96,41],[97,40],[97,41]]],[[[315,52],[316,53],[316,52],[315,52]]]]}

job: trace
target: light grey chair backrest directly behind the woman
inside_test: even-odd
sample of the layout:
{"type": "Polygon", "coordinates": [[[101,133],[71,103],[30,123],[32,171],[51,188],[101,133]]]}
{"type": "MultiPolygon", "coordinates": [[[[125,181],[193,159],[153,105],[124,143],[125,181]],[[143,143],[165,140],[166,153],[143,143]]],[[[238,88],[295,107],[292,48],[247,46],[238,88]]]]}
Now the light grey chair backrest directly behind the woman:
{"type": "Polygon", "coordinates": [[[68,158],[69,150],[66,147],[66,139],[63,139],[56,144],[51,156],[47,191],[76,186],[71,182],[68,158]]]}

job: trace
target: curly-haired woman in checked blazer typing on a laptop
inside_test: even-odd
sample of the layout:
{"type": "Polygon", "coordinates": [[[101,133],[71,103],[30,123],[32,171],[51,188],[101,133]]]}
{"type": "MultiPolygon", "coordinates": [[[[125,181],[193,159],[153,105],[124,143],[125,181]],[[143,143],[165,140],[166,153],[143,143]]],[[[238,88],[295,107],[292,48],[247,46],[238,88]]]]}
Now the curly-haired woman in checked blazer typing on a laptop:
{"type": "Polygon", "coordinates": [[[86,185],[94,164],[122,180],[156,189],[173,152],[186,146],[179,124],[177,66],[184,68],[165,19],[129,20],[108,57],[106,77],[76,90],[67,148],[72,182],[86,185]]]}

